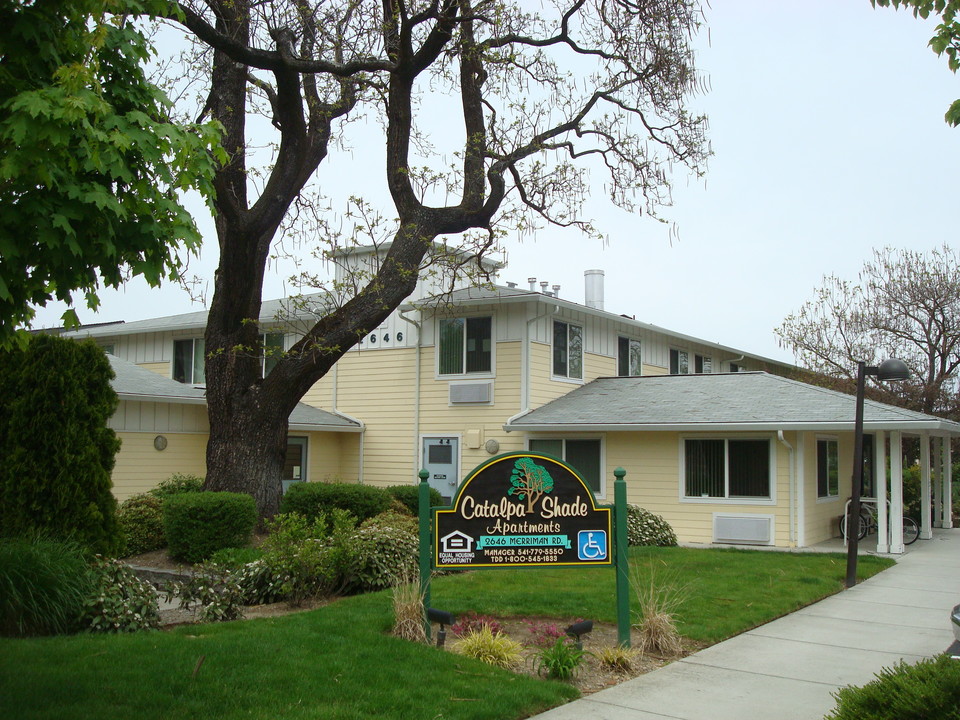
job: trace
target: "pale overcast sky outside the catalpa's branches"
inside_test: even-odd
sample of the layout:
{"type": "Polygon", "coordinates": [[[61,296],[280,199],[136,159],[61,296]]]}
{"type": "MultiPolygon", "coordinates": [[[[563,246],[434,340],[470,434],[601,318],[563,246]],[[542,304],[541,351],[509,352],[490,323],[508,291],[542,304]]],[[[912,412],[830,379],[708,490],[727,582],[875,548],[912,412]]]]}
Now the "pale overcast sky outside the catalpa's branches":
{"type": "MultiPolygon", "coordinates": [[[[960,128],[943,114],[960,76],[927,47],[932,20],[869,0],[713,0],[704,15],[694,45],[707,90],[691,107],[709,117],[706,175],[675,169],[668,224],[610,206],[598,176],[590,217],[607,240],[507,238],[500,280],[536,277],[582,302],[583,271],[601,269],[610,312],[790,362],[774,328],[824,275],[855,280],[875,248],[953,243],[960,128]]],[[[198,223],[191,273],[209,280],[216,237],[198,223]]],[[[288,274],[268,274],[265,299],[287,292],[288,274]]],[[[77,308],[81,322],[203,309],[176,285],[136,280],[101,299],[96,314],[77,308]]],[[[63,309],[41,309],[34,326],[59,325],[63,309]]]]}

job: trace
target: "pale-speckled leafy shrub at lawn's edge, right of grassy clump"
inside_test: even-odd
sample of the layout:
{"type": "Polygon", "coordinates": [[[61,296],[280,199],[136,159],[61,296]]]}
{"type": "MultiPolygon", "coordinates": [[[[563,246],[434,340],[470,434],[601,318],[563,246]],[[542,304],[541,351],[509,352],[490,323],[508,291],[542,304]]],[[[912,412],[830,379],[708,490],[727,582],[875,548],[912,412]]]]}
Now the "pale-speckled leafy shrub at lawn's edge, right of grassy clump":
{"type": "Polygon", "coordinates": [[[160,626],[157,593],[119,560],[97,556],[90,567],[94,592],[83,625],[92,632],[137,632],[160,626]]]}

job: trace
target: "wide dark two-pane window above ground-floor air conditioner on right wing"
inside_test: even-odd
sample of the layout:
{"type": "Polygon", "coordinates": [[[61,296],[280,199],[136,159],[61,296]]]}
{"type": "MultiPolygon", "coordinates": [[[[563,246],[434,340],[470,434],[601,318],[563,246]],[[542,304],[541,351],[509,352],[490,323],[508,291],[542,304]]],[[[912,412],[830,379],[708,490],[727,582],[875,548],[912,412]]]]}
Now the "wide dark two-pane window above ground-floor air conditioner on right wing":
{"type": "Polygon", "coordinates": [[[770,494],[770,441],[684,440],[684,496],[762,498],[770,494]]]}

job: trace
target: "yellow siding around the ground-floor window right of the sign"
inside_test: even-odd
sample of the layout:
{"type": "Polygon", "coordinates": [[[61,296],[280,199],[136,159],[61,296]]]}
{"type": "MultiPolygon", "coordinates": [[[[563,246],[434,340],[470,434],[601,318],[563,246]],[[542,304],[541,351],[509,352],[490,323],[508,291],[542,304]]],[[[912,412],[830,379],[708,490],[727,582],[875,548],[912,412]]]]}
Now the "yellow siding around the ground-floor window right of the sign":
{"type": "Polygon", "coordinates": [[[662,515],[681,542],[711,543],[713,513],[719,512],[773,515],[775,544],[790,544],[789,456],[775,438],[771,442],[776,449],[776,505],[681,502],[680,438],[672,432],[608,434],[607,495],[612,496],[613,469],[619,465],[627,471],[628,502],[662,515]]]}

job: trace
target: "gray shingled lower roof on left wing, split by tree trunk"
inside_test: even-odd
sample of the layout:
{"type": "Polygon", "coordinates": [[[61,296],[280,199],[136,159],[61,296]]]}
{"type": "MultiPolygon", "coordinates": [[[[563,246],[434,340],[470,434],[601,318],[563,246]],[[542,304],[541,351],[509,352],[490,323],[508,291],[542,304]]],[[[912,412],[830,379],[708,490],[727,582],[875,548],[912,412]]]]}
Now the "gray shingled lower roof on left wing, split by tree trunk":
{"type": "MultiPolygon", "coordinates": [[[[152,370],[107,355],[116,377],[113,389],[122,400],[142,402],[171,402],[188,405],[206,405],[206,391],[165,378],[152,370]]],[[[359,432],[363,425],[337,413],[298,403],[290,413],[290,427],[294,430],[327,430],[359,432]]]]}

